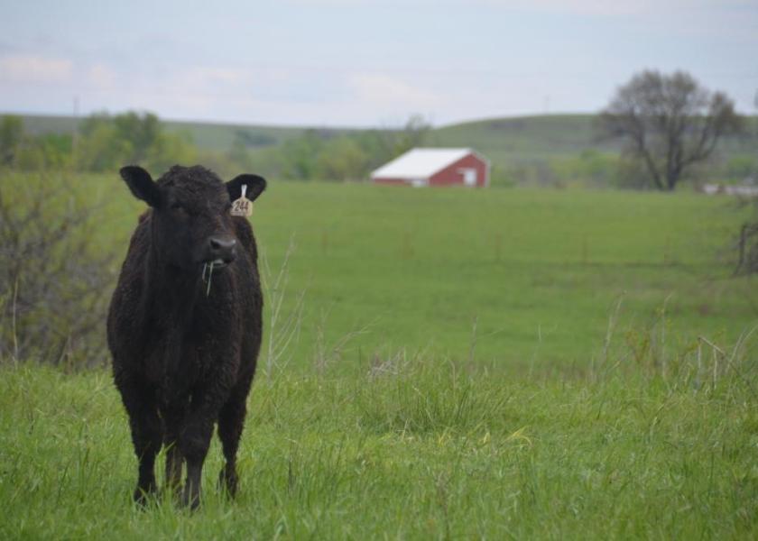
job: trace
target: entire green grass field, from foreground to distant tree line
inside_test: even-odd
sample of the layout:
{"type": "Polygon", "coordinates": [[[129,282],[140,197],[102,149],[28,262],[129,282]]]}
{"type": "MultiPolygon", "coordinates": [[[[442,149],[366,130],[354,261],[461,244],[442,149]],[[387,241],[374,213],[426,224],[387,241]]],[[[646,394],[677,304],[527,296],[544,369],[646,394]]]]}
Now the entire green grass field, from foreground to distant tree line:
{"type": "MultiPolygon", "coordinates": [[[[143,205],[116,175],[65,181],[106,198],[97,244],[123,254],[143,205]]],[[[276,362],[263,346],[238,500],[214,445],[199,512],[135,509],[107,371],[6,359],[0,538],[754,538],[745,216],[687,193],[274,181],[252,217],[267,338],[301,312],[276,362]]]]}

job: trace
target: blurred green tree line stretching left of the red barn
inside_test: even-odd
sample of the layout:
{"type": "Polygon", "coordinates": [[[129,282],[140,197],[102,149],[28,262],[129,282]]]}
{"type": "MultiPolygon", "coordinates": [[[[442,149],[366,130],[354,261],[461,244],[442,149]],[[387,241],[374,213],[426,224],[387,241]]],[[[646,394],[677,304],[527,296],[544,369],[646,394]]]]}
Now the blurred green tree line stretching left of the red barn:
{"type": "Polygon", "coordinates": [[[0,167],[15,170],[112,172],[139,164],[160,173],[175,163],[203,163],[221,174],[254,170],[276,179],[355,181],[414,146],[430,130],[421,116],[400,129],[340,133],[305,130],[278,143],[264,134],[236,132],[226,151],[201,149],[189,132],[171,132],[153,113],[97,113],[71,133],[33,135],[23,118],[0,120],[0,167]]]}

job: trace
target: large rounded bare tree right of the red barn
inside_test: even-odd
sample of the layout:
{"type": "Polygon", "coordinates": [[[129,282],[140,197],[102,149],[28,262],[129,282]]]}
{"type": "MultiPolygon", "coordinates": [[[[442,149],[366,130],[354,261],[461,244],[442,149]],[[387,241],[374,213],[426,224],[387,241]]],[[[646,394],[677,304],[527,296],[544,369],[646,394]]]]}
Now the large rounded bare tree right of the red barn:
{"type": "Polygon", "coordinates": [[[642,163],[656,188],[670,191],[743,124],[726,94],[708,91],[688,73],[642,71],[619,87],[599,125],[626,142],[624,152],[642,163]]]}

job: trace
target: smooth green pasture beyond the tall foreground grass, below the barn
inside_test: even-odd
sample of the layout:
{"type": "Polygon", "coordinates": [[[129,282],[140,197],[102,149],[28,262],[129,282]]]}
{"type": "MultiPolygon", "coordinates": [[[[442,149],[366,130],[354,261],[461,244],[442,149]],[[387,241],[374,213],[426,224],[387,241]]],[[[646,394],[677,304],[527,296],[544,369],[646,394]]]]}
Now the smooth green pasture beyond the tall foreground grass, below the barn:
{"type": "MultiPolygon", "coordinates": [[[[65,181],[104,204],[95,242],[120,264],[144,204],[116,175],[65,181]]],[[[290,336],[291,318],[278,357],[290,369],[423,351],[584,371],[609,324],[620,347],[640,333],[682,350],[698,336],[733,344],[758,323],[754,280],[732,276],[745,217],[689,193],[273,181],[252,217],[265,334],[290,336]]]]}

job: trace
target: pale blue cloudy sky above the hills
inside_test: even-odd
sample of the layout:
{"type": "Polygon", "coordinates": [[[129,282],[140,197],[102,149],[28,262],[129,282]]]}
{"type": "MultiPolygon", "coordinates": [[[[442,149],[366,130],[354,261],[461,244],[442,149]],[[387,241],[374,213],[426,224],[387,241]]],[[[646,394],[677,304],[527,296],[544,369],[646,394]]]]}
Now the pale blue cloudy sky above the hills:
{"type": "Polygon", "coordinates": [[[391,126],[592,112],[684,69],[744,113],[758,0],[0,0],[0,111],[391,126]]]}

